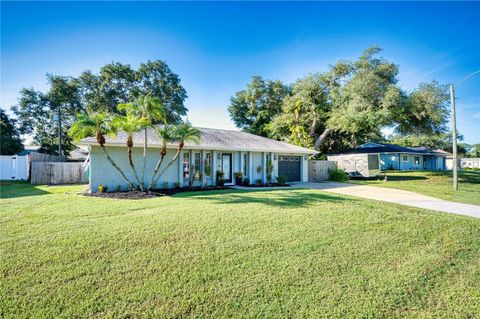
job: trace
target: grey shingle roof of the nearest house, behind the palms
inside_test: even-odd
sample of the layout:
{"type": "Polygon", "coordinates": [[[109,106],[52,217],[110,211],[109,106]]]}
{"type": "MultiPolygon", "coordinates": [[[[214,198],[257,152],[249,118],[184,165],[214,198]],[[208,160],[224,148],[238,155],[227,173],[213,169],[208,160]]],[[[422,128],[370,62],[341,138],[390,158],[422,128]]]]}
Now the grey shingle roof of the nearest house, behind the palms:
{"type": "MultiPolygon", "coordinates": [[[[258,152],[277,152],[277,153],[300,153],[313,154],[315,151],[292,145],[285,142],[275,141],[258,135],[253,135],[240,131],[221,130],[213,128],[201,128],[200,142],[185,142],[185,148],[205,149],[205,150],[236,150],[236,151],[258,151],[258,152]]],[[[105,136],[106,145],[125,145],[127,135],[125,132],[119,132],[115,138],[105,136]]],[[[134,146],[142,146],[144,141],[144,132],[136,132],[133,136],[134,146]]],[[[147,142],[149,146],[159,147],[162,145],[155,131],[147,129],[147,142]]],[[[82,139],[79,145],[96,144],[94,137],[82,139]]],[[[171,143],[168,147],[176,147],[176,143],[171,143]]]]}

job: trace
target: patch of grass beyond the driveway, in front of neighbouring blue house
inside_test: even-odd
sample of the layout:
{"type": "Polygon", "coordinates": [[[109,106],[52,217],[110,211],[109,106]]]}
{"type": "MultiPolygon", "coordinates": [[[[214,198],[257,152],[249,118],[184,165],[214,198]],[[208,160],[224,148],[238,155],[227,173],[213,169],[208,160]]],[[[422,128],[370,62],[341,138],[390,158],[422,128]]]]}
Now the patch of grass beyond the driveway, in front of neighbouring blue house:
{"type": "Polygon", "coordinates": [[[480,172],[459,172],[458,191],[453,191],[452,172],[440,171],[388,171],[387,182],[383,175],[372,179],[352,179],[349,183],[397,188],[449,201],[480,205],[480,172]]]}

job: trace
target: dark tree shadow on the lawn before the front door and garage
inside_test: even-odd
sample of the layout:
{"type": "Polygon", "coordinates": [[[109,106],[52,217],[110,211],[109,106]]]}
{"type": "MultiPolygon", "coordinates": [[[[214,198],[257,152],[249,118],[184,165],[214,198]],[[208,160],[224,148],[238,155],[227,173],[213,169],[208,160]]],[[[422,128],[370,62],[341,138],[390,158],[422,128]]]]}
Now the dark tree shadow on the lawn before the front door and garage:
{"type": "Polygon", "coordinates": [[[202,193],[182,193],[176,198],[195,198],[218,204],[262,204],[275,207],[305,207],[316,202],[356,201],[341,195],[330,195],[318,191],[300,189],[282,190],[226,190],[202,193]]]}

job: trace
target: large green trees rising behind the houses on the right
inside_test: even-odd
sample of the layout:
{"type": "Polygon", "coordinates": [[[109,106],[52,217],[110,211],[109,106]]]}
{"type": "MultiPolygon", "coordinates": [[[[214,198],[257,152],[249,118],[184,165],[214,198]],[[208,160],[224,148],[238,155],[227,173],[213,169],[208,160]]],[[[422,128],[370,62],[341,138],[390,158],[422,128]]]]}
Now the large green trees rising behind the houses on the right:
{"type": "MultiPolygon", "coordinates": [[[[436,81],[411,92],[398,85],[398,65],[370,47],[355,61],[339,61],[291,85],[252,77],[235,93],[228,111],[253,134],[335,153],[367,141],[404,146],[450,147],[449,95],[436,81]],[[382,129],[393,134],[382,136],[382,129]]],[[[460,150],[469,151],[460,144],[460,150]]]]}

